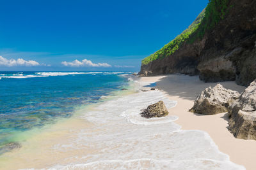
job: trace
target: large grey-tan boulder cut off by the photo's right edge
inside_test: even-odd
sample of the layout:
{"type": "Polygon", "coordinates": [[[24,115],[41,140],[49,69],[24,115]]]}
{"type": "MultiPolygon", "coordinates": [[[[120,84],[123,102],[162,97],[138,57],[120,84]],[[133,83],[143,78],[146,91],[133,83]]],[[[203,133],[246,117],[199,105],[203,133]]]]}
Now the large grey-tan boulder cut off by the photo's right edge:
{"type": "Polygon", "coordinates": [[[256,80],[229,108],[229,131],[236,138],[256,139],[256,80]]]}

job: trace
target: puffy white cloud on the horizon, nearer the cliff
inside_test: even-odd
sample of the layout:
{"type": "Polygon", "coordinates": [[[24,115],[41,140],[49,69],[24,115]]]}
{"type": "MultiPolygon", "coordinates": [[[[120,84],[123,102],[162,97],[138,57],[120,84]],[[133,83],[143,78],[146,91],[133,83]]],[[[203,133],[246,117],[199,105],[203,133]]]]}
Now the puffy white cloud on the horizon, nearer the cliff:
{"type": "Polygon", "coordinates": [[[93,63],[91,60],[74,60],[72,62],[63,61],[61,62],[64,66],[70,67],[82,67],[82,66],[90,66],[90,67],[111,67],[108,63],[93,63]]]}

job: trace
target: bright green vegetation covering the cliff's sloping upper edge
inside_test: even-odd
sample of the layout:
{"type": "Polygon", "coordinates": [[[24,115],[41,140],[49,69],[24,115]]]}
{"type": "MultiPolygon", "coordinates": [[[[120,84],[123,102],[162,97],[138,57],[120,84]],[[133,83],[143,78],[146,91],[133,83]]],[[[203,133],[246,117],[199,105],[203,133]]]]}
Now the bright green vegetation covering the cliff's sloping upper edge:
{"type": "Polygon", "coordinates": [[[203,10],[196,20],[189,25],[188,29],[183,31],[179,36],[164,45],[163,48],[151,54],[141,61],[141,65],[146,65],[153,60],[163,59],[172,55],[179,47],[185,43],[193,43],[196,39],[202,39],[205,31],[212,29],[225,17],[228,2],[230,0],[209,0],[205,10],[203,10]]]}

